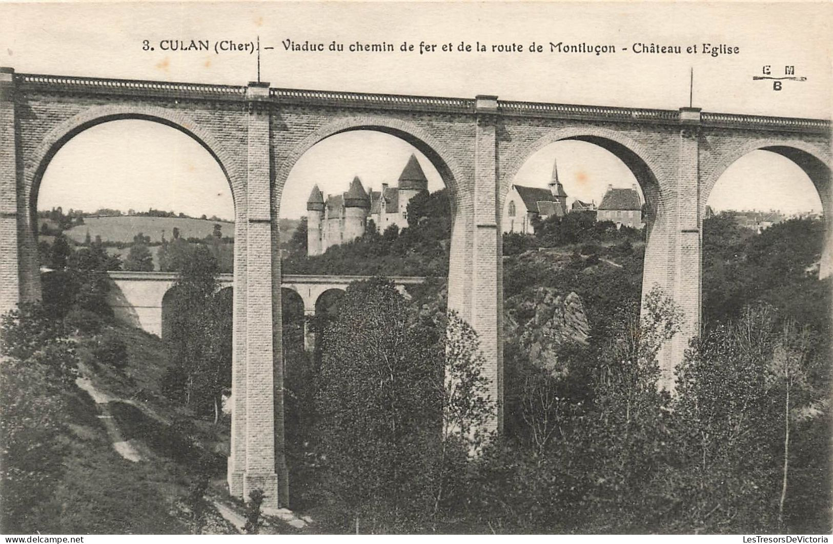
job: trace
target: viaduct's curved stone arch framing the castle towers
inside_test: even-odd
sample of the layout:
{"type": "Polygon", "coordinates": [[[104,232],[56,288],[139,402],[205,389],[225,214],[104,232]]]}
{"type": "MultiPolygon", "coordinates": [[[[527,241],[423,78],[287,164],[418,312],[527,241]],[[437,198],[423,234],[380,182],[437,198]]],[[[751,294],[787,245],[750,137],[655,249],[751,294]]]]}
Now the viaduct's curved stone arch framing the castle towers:
{"type": "Polygon", "coordinates": [[[362,115],[352,117],[342,117],[335,121],[328,122],[322,127],[318,127],[315,131],[305,137],[301,142],[298,142],[295,147],[289,152],[283,162],[277,167],[275,176],[275,202],[273,207],[280,215],[281,195],[283,187],[287,182],[292,167],[302,157],[304,153],[309,151],[313,146],[328,137],[342,134],[343,132],[353,132],[357,130],[371,130],[376,132],[384,132],[391,136],[398,137],[412,146],[416,147],[422,154],[424,154],[431,164],[436,167],[437,172],[440,173],[442,182],[448,187],[451,192],[451,201],[453,205],[460,209],[461,207],[471,207],[469,195],[461,191],[461,186],[465,183],[463,169],[454,158],[454,153],[451,152],[445,144],[440,142],[436,137],[432,136],[430,132],[419,127],[418,125],[397,119],[396,117],[386,117],[377,115],[362,115]]]}

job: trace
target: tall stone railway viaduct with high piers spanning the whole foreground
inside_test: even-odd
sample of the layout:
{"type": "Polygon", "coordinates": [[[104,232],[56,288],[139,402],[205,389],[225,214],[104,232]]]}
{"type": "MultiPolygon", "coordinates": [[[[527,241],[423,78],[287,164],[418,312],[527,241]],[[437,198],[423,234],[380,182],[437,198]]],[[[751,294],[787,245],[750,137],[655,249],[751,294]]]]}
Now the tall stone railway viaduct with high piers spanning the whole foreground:
{"type": "MultiPolygon", "coordinates": [[[[643,298],[660,287],[685,312],[661,352],[662,380],[701,322],[701,225],[709,193],[736,159],[757,149],[791,159],[831,217],[829,120],[629,107],[514,102],[481,95],[357,92],[49,76],[0,68],[0,311],[40,296],[35,207],[50,159],[77,133],[116,119],[185,132],[217,159],[235,202],[232,449],[228,485],[286,505],[281,258],[278,217],[287,176],[317,142],[353,130],[387,132],[434,164],[451,194],[448,305],[478,332],[502,420],[502,204],[532,153],[560,140],[619,157],[646,197],[643,298]],[[275,326],[277,324],[277,326],[275,326]]],[[[831,272],[827,228],[822,273],[831,272]]]]}

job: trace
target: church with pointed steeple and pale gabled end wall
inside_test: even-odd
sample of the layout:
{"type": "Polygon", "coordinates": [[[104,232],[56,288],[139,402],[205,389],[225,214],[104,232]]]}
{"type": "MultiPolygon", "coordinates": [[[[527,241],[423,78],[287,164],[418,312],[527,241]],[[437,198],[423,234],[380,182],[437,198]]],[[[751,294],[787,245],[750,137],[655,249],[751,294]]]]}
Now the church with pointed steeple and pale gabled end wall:
{"type": "Polygon", "coordinates": [[[567,193],[558,181],[558,167],[555,161],[552,162],[552,177],[548,187],[542,189],[512,185],[503,206],[503,232],[535,234],[532,228],[533,217],[546,219],[551,216],[565,216],[567,193]]]}

